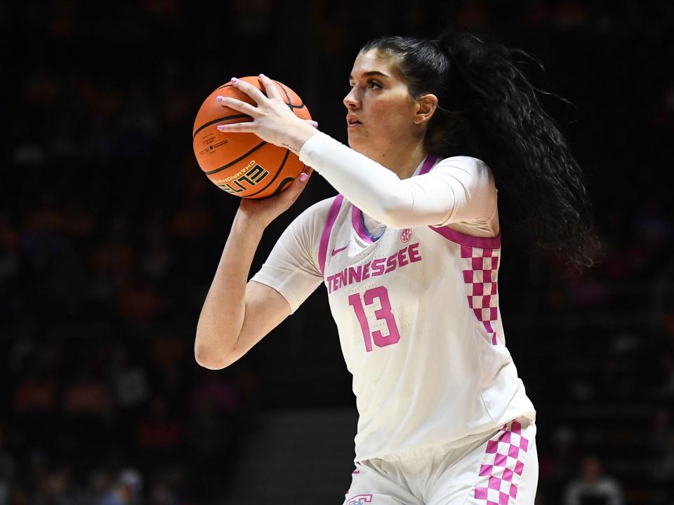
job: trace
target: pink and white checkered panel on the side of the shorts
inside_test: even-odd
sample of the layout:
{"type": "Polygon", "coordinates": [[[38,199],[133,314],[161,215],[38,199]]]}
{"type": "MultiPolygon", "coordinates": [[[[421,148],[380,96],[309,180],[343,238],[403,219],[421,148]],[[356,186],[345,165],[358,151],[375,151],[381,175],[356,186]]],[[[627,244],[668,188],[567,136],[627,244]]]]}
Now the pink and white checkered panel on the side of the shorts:
{"type": "Polygon", "coordinates": [[[480,476],[486,487],[475,486],[475,503],[508,505],[517,499],[517,485],[524,470],[529,440],[522,436],[522,425],[513,421],[487,442],[487,457],[480,466],[480,476]]]}

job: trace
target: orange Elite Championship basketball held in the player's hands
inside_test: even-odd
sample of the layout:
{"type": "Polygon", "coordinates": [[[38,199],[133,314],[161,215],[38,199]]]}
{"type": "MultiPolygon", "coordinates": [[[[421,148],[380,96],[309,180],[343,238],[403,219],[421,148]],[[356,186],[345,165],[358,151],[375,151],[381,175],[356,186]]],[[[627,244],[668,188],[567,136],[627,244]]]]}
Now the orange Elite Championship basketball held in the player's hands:
{"type": "MultiPolygon", "coordinates": [[[[265,93],[257,77],[242,77],[241,80],[265,93]]],[[[293,90],[278,81],[274,83],[296,116],[311,119],[307,107],[293,90]]],[[[243,198],[265,198],[283,191],[300,175],[304,163],[288,149],[268,144],[254,133],[224,133],[218,130],[219,124],[251,121],[251,116],[220,105],[216,100],[218,95],[255,105],[232,83],[223,84],[206,98],[199,107],[192,130],[194,154],[201,170],[218,187],[243,198]]]]}

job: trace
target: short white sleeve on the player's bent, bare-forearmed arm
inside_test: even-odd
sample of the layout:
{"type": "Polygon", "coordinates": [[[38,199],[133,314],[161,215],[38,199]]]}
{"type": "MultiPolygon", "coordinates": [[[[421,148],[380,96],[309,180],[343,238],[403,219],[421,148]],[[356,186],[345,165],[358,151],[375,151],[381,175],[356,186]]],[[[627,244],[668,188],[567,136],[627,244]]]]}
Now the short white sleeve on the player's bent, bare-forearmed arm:
{"type": "Polygon", "coordinates": [[[280,236],[260,271],[251,278],[277,290],[288,301],[291,314],[323,282],[318,249],[332,200],[319,201],[300,214],[280,236]]]}

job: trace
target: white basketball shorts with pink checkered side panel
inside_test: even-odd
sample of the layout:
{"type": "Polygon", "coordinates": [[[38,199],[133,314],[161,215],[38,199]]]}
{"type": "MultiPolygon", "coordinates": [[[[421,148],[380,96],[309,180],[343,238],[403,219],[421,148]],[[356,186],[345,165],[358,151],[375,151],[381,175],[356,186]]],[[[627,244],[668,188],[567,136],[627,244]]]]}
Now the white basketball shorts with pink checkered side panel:
{"type": "Polygon", "coordinates": [[[536,424],[522,418],[463,447],[356,463],[343,505],[532,505],[536,424]]]}

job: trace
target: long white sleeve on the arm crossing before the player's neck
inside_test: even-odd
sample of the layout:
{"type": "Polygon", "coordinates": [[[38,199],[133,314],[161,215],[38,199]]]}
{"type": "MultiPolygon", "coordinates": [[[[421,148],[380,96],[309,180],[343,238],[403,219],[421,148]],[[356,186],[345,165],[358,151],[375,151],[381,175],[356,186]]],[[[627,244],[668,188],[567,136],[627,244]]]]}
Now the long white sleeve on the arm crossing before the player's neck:
{"type": "Polygon", "coordinates": [[[470,156],[444,159],[430,173],[400,180],[376,161],[317,133],[300,149],[300,160],[366,215],[392,228],[489,220],[496,210],[491,170],[470,156]]]}

